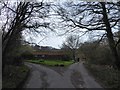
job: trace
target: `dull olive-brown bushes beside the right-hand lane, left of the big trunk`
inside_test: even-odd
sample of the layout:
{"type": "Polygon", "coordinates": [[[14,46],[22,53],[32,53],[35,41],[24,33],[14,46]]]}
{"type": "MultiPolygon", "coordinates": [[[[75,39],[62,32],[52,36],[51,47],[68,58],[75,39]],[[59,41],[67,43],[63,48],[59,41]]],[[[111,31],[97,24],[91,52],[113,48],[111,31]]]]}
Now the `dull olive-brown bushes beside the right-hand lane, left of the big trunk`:
{"type": "Polygon", "coordinates": [[[80,47],[80,51],[91,64],[113,65],[113,57],[108,45],[85,43],[80,47]]]}

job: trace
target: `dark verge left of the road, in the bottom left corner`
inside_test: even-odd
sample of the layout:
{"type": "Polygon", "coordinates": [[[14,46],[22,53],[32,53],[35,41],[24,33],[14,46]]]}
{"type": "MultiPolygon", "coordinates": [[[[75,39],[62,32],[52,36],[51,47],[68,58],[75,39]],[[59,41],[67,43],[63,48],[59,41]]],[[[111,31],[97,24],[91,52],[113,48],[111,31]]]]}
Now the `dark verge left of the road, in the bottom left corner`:
{"type": "Polygon", "coordinates": [[[2,80],[3,88],[20,88],[23,81],[26,79],[29,68],[22,66],[6,66],[2,80]]]}

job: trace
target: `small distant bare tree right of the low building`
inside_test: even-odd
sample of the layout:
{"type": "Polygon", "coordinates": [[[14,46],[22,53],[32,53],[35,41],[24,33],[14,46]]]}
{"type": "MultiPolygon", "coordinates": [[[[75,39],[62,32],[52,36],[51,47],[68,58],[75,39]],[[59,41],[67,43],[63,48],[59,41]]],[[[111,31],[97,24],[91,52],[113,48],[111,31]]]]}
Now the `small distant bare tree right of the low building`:
{"type": "Polygon", "coordinates": [[[76,61],[77,49],[80,47],[80,38],[77,35],[67,37],[63,43],[62,49],[68,49],[72,53],[72,59],[76,61]]]}

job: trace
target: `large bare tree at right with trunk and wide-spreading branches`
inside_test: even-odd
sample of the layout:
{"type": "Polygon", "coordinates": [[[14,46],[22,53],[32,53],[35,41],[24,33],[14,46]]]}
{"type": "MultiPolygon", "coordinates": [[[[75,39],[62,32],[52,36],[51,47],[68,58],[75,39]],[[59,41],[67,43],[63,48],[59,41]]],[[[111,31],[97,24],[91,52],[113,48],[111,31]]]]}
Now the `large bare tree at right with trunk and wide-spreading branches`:
{"type": "Polygon", "coordinates": [[[113,34],[118,29],[118,22],[120,21],[118,7],[120,7],[119,3],[113,2],[67,2],[64,6],[59,5],[57,13],[65,22],[69,22],[68,25],[73,28],[103,31],[103,36],[108,38],[115,65],[120,68],[120,59],[113,34]]]}

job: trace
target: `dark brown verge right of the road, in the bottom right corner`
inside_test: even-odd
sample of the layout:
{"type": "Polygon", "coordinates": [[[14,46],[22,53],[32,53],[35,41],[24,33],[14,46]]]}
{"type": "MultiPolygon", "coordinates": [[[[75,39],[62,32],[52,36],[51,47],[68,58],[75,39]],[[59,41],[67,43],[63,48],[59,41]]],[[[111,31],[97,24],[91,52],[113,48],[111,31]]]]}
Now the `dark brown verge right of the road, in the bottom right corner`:
{"type": "Polygon", "coordinates": [[[120,90],[120,71],[103,65],[85,64],[85,66],[103,87],[120,90]]]}

